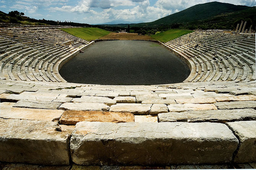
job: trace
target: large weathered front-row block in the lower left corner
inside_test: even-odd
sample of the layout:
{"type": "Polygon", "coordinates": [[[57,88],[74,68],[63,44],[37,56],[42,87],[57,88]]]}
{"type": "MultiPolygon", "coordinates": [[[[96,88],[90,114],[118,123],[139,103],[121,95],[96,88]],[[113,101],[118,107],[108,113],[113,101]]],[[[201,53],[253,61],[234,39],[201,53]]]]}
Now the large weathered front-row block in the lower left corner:
{"type": "Polygon", "coordinates": [[[69,165],[70,134],[57,122],[0,118],[0,161],[69,165]]]}

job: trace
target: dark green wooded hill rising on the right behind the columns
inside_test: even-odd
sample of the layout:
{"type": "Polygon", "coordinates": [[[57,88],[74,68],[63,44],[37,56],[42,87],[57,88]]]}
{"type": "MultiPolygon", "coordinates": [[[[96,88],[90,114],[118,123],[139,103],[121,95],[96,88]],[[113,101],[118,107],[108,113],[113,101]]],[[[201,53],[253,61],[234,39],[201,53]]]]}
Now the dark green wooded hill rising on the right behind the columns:
{"type": "MultiPolygon", "coordinates": [[[[130,24],[130,28],[138,29],[235,29],[241,20],[247,21],[250,28],[256,24],[256,8],[230,3],[209,2],[194,5],[183,11],[149,23],[130,24]],[[235,26],[234,26],[235,25],[235,26]]],[[[241,22],[240,22],[241,23],[241,22]]],[[[113,26],[126,27],[128,24],[113,26]]],[[[247,29],[249,29],[247,28],[247,29]]]]}

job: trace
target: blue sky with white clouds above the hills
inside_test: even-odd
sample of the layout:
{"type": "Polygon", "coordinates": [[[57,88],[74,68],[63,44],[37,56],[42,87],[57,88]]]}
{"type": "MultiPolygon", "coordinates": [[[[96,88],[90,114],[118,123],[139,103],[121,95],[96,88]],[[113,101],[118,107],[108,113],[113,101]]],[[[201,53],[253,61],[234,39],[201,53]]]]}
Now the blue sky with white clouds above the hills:
{"type": "Polygon", "coordinates": [[[0,0],[0,10],[18,10],[36,19],[88,24],[117,19],[149,22],[212,1],[256,6],[256,0],[0,0]]]}

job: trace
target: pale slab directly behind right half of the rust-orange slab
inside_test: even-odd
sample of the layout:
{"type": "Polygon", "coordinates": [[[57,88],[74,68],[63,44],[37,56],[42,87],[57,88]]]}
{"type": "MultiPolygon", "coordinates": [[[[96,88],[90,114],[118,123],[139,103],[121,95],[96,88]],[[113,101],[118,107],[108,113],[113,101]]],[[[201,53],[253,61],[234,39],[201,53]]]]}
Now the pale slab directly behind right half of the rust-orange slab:
{"type": "Polygon", "coordinates": [[[110,107],[110,112],[131,112],[135,115],[148,115],[151,104],[118,103],[110,107]]]}

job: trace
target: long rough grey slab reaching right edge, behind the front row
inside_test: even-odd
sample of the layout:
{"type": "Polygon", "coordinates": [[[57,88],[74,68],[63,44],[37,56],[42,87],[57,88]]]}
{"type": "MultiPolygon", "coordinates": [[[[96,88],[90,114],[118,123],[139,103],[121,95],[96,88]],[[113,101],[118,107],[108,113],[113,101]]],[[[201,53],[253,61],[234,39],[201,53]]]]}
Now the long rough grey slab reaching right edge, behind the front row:
{"type": "Polygon", "coordinates": [[[158,121],[164,122],[217,122],[256,120],[256,110],[251,108],[233,110],[199,110],[187,112],[168,112],[158,114],[158,121]]]}

